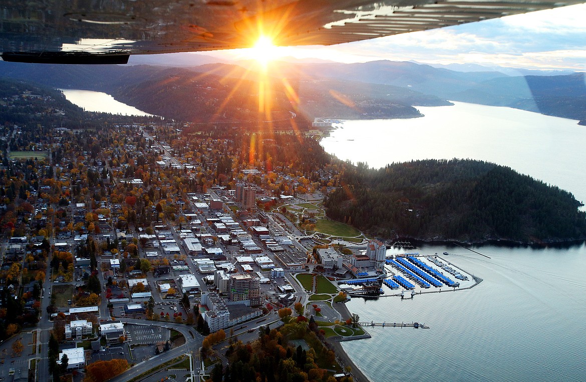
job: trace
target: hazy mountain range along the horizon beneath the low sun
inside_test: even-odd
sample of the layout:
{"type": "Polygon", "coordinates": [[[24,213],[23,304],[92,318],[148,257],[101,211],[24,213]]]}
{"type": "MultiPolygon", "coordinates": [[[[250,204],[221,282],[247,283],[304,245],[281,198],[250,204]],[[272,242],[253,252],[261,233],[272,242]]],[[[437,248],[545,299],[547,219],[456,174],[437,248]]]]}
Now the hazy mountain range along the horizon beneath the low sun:
{"type": "MultiPolygon", "coordinates": [[[[254,62],[217,63],[217,57],[190,53],[137,56],[132,61],[160,63],[161,60],[168,60],[182,69],[142,64],[54,66],[2,62],[0,76],[51,87],[104,91],[141,110],[176,119],[197,117],[203,120],[214,113],[214,118],[224,115],[225,109],[218,112],[209,106],[208,87],[216,90],[234,87],[232,93],[212,92],[213,97],[230,96],[240,100],[258,97],[261,77],[254,62]],[[238,84],[242,84],[240,89],[236,88],[238,84]],[[203,85],[206,91],[201,91],[203,85]],[[153,94],[156,97],[152,97],[153,94]],[[157,101],[162,99],[166,101],[165,107],[157,101]],[[203,104],[207,104],[206,108],[202,108],[203,104]]],[[[386,60],[353,64],[279,62],[269,68],[271,80],[264,80],[263,86],[275,91],[275,100],[278,100],[275,105],[279,105],[279,110],[275,110],[277,114],[284,117],[292,111],[301,113],[309,121],[314,117],[417,117],[420,114],[414,107],[447,105],[445,100],[452,100],[520,108],[586,124],[584,73],[510,76],[497,68],[486,68],[486,71],[481,71],[479,66],[458,68],[460,70],[456,71],[386,60]],[[462,71],[464,69],[469,71],[462,71]]],[[[224,102],[224,107],[227,104],[230,101],[224,102]]],[[[247,118],[255,118],[254,105],[247,101],[247,107],[252,111],[243,111],[244,114],[248,114],[247,118]]],[[[240,117],[243,112],[238,113],[240,117]]]]}

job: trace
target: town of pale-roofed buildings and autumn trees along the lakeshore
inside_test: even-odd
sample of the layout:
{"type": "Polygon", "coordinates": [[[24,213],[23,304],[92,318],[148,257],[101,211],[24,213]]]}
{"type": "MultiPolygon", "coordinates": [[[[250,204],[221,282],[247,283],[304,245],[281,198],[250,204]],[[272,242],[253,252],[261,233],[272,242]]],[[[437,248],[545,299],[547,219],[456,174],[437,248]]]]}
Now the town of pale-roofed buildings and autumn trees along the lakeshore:
{"type": "Polygon", "coordinates": [[[0,378],[155,381],[171,368],[174,380],[219,381],[234,346],[302,323],[319,353],[305,367],[330,370],[311,380],[365,380],[327,340],[368,336],[343,302],[414,294],[391,265],[430,287],[386,244],[325,217],[348,164],[315,131],[99,114],[69,128],[74,111],[47,106],[57,96],[18,91],[3,107],[38,123],[0,131],[0,378]]]}

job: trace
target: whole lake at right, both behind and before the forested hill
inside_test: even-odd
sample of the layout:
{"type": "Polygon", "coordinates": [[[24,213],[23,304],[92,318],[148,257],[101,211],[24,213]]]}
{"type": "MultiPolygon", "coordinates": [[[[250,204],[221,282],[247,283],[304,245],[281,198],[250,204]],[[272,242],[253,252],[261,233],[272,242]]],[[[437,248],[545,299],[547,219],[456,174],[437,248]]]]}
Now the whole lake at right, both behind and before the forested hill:
{"type": "MultiPolygon", "coordinates": [[[[322,139],[326,151],[371,167],[412,159],[471,158],[572,192],[586,201],[586,127],[511,108],[455,103],[421,107],[423,118],[345,121],[322,139]]],[[[473,248],[427,245],[421,254],[481,277],[472,289],[365,301],[361,321],[424,322],[428,330],[367,328],[342,343],[374,382],[586,381],[586,246],[473,248]]]]}

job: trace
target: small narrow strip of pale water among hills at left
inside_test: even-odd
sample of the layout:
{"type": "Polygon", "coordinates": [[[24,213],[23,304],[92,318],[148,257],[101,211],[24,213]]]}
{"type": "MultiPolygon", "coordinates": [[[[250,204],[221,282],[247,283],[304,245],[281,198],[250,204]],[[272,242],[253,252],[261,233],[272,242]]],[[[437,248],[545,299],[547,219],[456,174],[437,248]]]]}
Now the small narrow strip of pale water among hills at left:
{"type": "Polygon", "coordinates": [[[110,96],[110,94],[101,93],[100,91],[77,90],[77,89],[60,89],[65,98],[72,104],[75,104],[86,111],[109,112],[110,114],[121,115],[142,115],[153,117],[152,114],[138,110],[137,108],[121,103],[110,96]]]}

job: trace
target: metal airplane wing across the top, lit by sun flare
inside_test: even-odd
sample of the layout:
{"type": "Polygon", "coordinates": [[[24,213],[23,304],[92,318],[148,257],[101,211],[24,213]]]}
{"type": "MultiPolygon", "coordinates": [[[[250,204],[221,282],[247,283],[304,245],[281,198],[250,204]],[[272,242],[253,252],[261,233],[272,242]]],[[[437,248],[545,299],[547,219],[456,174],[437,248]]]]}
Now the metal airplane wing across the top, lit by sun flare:
{"type": "Polygon", "coordinates": [[[584,0],[2,0],[5,61],[125,63],[129,54],[333,45],[584,0]]]}

